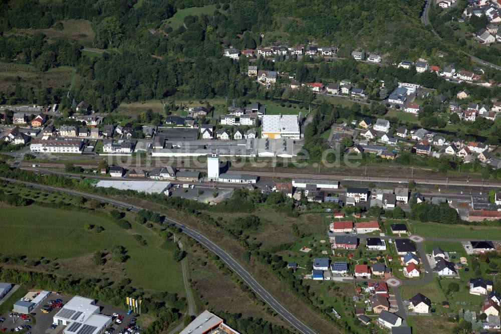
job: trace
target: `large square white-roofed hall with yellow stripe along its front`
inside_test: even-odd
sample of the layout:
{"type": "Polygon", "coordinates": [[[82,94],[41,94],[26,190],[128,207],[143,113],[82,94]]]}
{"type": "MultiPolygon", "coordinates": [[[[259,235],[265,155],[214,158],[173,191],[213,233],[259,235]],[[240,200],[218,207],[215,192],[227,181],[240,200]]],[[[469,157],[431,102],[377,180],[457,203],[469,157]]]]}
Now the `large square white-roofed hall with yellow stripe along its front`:
{"type": "Polygon", "coordinates": [[[262,123],[263,138],[301,138],[298,115],[263,115],[262,123]]]}

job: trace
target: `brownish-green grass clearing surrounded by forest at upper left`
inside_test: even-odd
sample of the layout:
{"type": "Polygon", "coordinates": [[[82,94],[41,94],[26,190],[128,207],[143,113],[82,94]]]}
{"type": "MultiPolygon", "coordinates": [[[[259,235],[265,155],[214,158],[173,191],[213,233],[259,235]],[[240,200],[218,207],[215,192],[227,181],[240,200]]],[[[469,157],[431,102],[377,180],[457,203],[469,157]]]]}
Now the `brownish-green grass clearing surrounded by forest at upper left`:
{"type": "Polygon", "coordinates": [[[94,40],[94,32],[92,24],[87,20],[67,20],[63,21],[63,30],[56,29],[13,29],[13,34],[19,35],[34,35],[41,32],[47,36],[49,40],[57,40],[61,38],[73,39],[86,46],[90,46],[94,40]]]}

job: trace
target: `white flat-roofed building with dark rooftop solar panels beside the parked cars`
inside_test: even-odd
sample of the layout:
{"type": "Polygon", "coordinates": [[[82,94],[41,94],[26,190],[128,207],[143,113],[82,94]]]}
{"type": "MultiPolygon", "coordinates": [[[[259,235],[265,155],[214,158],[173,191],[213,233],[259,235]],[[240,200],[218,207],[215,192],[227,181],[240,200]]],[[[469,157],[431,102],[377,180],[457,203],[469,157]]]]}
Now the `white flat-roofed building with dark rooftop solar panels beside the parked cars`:
{"type": "Polygon", "coordinates": [[[100,309],[94,299],[75,296],[54,315],[54,323],[67,325],[64,334],[101,334],[113,319],[98,314],[100,309]]]}

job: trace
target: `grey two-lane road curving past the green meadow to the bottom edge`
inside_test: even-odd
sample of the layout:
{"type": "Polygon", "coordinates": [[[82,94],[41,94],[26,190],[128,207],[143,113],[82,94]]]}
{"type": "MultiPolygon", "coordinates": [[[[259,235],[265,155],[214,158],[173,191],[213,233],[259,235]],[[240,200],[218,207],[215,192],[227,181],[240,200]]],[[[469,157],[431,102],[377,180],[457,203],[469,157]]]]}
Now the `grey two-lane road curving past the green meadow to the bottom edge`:
{"type": "MultiPolygon", "coordinates": [[[[7,178],[0,178],[1,180],[8,181],[11,183],[18,183],[18,184],[23,184],[27,186],[31,186],[33,188],[38,188],[38,189],[43,189],[46,191],[51,191],[51,192],[61,192],[61,193],[66,193],[74,196],[83,196],[86,198],[91,198],[98,200],[103,203],[109,203],[117,207],[122,207],[122,208],[128,208],[132,212],[138,212],[142,210],[143,208],[138,207],[138,206],[132,206],[130,204],[112,200],[106,197],[94,195],[94,194],[87,194],[79,191],[74,191],[74,190],[69,190],[69,189],[64,189],[64,188],[57,188],[57,187],[50,187],[50,186],[44,186],[44,185],[39,185],[36,183],[31,183],[31,182],[24,182],[24,181],[18,181],[18,180],[13,180],[13,179],[7,179],[7,178]]],[[[289,312],[284,306],[282,306],[268,291],[266,291],[261,284],[258,283],[254,277],[252,277],[237,261],[235,261],[228,253],[226,253],[223,249],[219,248],[216,244],[214,244],[212,241],[209,239],[205,238],[203,235],[199,234],[198,232],[191,230],[184,225],[173,221],[169,218],[165,218],[165,221],[180,228],[183,233],[188,235],[189,237],[195,239],[197,242],[208,248],[210,251],[212,251],[214,254],[219,256],[238,276],[241,277],[241,279],[247,283],[250,288],[252,288],[266,303],[268,303],[278,314],[280,314],[286,321],[288,321],[290,324],[292,324],[294,327],[296,327],[300,332],[305,333],[305,334],[315,334],[315,331],[310,329],[307,325],[305,325],[301,320],[299,320],[297,317],[295,317],[291,312],[289,312]]]]}

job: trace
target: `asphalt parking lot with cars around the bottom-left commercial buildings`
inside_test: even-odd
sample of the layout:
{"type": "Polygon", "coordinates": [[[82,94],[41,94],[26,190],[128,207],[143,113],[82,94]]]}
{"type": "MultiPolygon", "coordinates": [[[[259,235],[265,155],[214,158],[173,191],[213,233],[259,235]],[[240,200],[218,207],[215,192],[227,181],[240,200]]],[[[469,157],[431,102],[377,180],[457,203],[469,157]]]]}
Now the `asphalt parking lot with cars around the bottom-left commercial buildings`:
{"type": "MultiPolygon", "coordinates": [[[[33,292],[30,292],[29,295],[32,295],[33,292]]],[[[28,294],[27,294],[28,295],[28,294]]],[[[43,313],[42,308],[47,308],[49,306],[49,301],[51,300],[56,300],[56,299],[62,299],[63,304],[68,302],[73,296],[66,296],[66,295],[61,295],[57,294],[56,292],[52,292],[49,297],[43,302],[42,305],[40,305],[38,308],[34,309],[32,313],[29,314],[29,318],[31,319],[30,322],[25,322],[19,315],[14,316],[9,316],[11,313],[6,312],[5,314],[0,314],[0,317],[5,317],[6,320],[0,324],[0,330],[3,328],[7,328],[5,330],[6,333],[10,333],[11,330],[12,332],[16,332],[19,334],[26,334],[28,332],[31,332],[32,334],[61,334],[63,333],[63,330],[66,326],[64,325],[58,325],[55,329],[50,329],[50,326],[54,322],[54,315],[56,315],[60,308],[55,308],[49,313],[43,313]],[[20,331],[16,331],[15,328],[18,326],[26,326],[27,324],[31,325],[31,329],[24,328],[20,331]]],[[[114,306],[108,306],[104,305],[102,303],[96,302],[97,305],[101,306],[101,313],[110,315],[112,316],[114,313],[122,315],[124,319],[122,320],[122,323],[117,324],[116,323],[116,316],[113,316],[113,322],[111,324],[111,327],[115,328],[114,334],[119,333],[122,329],[124,329],[127,324],[130,322],[130,320],[133,318],[134,313],[131,313],[130,315],[127,315],[127,310],[126,309],[121,309],[118,307],[114,306]]],[[[140,316],[137,317],[138,321],[140,321],[140,316]]],[[[133,333],[137,332],[138,330],[133,331],[133,333]]]]}

